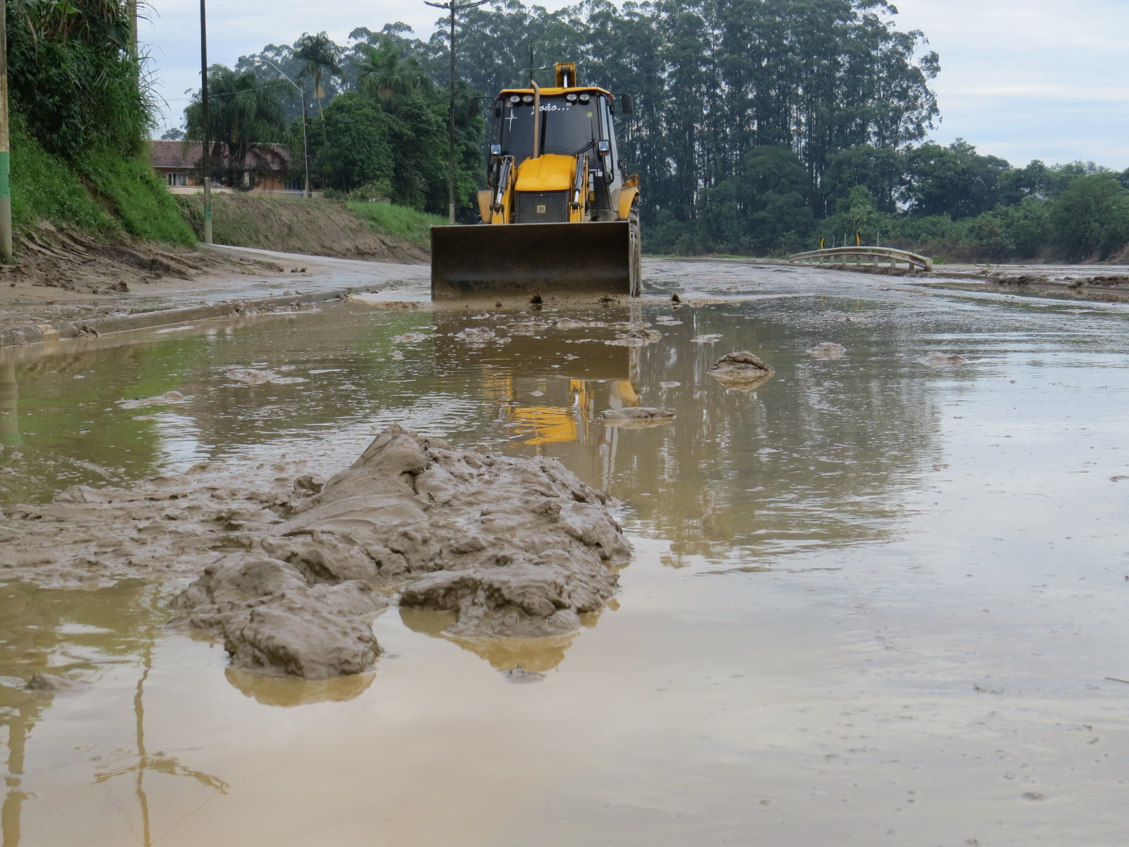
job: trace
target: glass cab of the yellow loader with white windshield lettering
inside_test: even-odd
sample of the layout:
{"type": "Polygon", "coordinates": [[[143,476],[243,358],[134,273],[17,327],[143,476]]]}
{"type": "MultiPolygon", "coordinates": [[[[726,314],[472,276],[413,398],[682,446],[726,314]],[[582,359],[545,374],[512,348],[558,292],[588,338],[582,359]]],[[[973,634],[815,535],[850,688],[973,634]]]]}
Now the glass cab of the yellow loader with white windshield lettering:
{"type": "MultiPolygon", "coordinates": [[[[588,159],[588,203],[592,220],[615,220],[613,198],[622,185],[615,129],[612,124],[612,95],[596,87],[557,87],[541,89],[539,157],[546,167],[554,157],[569,157],[575,166],[581,156],[588,159]]],[[[511,157],[519,171],[533,158],[534,93],[508,89],[498,96],[495,108],[497,129],[491,143],[490,184],[497,186],[504,160],[511,157]]],[[[560,161],[561,167],[564,163],[560,161]]],[[[531,163],[532,164],[532,163],[531,163]]],[[[570,166],[571,167],[571,166],[570,166]]],[[[544,169],[544,168],[542,168],[544,169]]],[[[518,186],[522,192],[522,186],[518,186]]],[[[563,202],[563,201],[562,201],[563,202]]],[[[515,222],[524,222],[523,203],[517,202],[515,222]]],[[[544,206],[544,203],[539,203],[544,206]]],[[[562,212],[563,213],[563,210],[562,212]]],[[[554,216],[555,217],[555,216],[554,216]]],[[[568,218],[561,218],[567,220],[568,218]]]]}

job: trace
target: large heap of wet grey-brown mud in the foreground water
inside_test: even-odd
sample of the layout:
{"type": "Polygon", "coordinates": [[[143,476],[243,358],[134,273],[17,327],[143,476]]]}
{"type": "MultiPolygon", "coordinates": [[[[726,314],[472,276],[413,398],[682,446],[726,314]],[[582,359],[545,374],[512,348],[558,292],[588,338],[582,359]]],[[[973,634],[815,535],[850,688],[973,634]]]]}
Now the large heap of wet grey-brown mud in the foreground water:
{"type": "MultiPolygon", "coordinates": [[[[150,402],[176,399],[129,408],[150,402]]],[[[221,638],[233,666],[326,679],[373,664],[368,621],[388,596],[448,613],[460,637],[560,636],[605,606],[630,556],[607,495],[554,459],[392,426],[324,486],[301,470],[202,464],[132,489],[69,488],[0,513],[0,574],[79,587],[203,571],[181,626],[221,638]]]]}

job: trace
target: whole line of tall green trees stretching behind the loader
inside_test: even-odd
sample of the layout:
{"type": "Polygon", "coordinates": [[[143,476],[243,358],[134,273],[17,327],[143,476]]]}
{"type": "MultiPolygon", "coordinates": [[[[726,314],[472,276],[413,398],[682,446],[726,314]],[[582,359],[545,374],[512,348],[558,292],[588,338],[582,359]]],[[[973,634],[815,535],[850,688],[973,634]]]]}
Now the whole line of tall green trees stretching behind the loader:
{"type": "MultiPolygon", "coordinates": [[[[531,78],[551,85],[552,64],[568,60],[581,82],[634,102],[619,116],[620,147],[642,181],[650,252],[778,255],[844,236],[947,259],[1121,251],[1127,174],[1092,163],[1012,167],[964,141],[926,142],[939,114],[930,87],[939,59],[895,16],[883,0],[585,0],[558,11],[497,0],[469,10],[458,30],[461,219],[475,217],[491,131],[490,111],[472,116],[471,98],[531,78]]],[[[251,138],[250,115],[261,115],[270,128],[255,137],[289,139],[300,163],[300,98],[256,61],[270,60],[307,93],[318,185],[441,212],[440,24],[428,40],[403,24],[359,27],[347,45],[305,34],[213,68],[217,102],[270,102],[220,110],[212,137],[237,150],[233,139],[251,138]]],[[[198,108],[187,111],[190,137],[198,108]]],[[[243,166],[243,152],[233,158],[243,166]]]]}

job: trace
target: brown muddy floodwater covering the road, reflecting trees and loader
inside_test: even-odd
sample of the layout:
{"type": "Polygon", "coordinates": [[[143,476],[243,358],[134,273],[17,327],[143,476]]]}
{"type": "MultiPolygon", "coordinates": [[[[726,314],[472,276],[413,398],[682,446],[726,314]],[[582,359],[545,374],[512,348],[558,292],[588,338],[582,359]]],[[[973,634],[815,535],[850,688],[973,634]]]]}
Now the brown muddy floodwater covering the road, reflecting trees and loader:
{"type": "Polygon", "coordinates": [[[166,630],[186,579],[0,570],[3,847],[1129,841],[1129,306],[646,274],[630,307],[0,351],[3,510],[203,460],[330,475],[395,422],[559,457],[634,547],[575,636],[392,606],[375,670],[324,682],[166,630]],[[709,373],[742,350],[774,369],[749,391],[709,373]],[[601,414],[632,407],[675,417],[601,414]]]}

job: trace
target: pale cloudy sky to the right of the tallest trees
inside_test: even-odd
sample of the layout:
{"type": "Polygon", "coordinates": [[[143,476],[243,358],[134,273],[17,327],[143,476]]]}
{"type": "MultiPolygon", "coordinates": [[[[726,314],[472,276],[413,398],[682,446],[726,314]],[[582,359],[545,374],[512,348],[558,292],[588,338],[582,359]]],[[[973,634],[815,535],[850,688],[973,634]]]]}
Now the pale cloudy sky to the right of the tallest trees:
{"type": "Polygon", "coordinates": [[[1129,167],[1124,0],[900,0],[902,29],[940,54],[937,141],[1013,164],[1129,167]]]}

